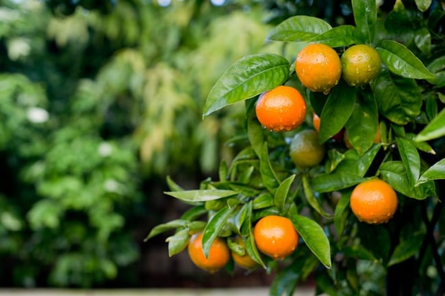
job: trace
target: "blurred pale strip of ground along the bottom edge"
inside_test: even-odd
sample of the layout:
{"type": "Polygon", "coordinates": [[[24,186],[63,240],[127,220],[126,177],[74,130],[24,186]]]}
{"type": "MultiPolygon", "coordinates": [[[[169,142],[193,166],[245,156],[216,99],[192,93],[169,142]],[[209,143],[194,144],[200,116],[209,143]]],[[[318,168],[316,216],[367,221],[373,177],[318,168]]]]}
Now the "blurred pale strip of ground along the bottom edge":
{"type": "MultiPolygon", "coordinates": [[[[143,289],[143,290],[53,290],[53,289],[0,289],[0,296],[268,296],[268,288],[230,289],[143,289]]],[[[313,296],[314,288],[298,288],[294,296],[313,296]]]]}

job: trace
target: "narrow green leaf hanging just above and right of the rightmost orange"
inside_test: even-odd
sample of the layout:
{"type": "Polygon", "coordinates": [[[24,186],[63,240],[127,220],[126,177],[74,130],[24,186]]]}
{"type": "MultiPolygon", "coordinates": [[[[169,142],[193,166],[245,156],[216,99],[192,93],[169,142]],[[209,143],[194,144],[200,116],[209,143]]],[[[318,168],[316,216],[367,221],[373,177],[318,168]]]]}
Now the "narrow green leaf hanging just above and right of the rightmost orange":
{"type": "Polygon", "coordinates": [[[420,156],[416,147],[407,139],[396,139],[398,152],[407,172],[410,188],[414,187],[420,176],[420,156]]]}

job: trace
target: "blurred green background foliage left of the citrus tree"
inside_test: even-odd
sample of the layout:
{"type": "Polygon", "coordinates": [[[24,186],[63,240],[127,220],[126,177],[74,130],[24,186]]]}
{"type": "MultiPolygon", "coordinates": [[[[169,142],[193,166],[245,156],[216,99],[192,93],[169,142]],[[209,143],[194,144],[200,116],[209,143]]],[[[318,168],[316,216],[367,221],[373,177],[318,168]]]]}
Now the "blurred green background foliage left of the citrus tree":
{"type": "Polygon", "coordinates": [[[216,79],[281,52],[272,25],[350,23],[348,3],[0,1],[0,286],[143,286],[165,177],[195,187],[236,152],[244,109],[202,118],[216,79]]]}

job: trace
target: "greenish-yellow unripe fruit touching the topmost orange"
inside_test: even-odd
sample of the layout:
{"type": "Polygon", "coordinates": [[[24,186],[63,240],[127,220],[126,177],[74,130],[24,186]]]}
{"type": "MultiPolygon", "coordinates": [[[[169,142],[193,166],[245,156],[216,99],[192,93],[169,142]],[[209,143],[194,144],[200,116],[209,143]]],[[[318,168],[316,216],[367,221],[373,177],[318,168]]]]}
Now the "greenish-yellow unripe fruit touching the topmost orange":
{"type": "Polygon", "coordinates": [[[371,46],[357,44],[344,51],[341,57],[342,77],[348,85],[361,86],[379,75],[381,58],[371,46]]]}

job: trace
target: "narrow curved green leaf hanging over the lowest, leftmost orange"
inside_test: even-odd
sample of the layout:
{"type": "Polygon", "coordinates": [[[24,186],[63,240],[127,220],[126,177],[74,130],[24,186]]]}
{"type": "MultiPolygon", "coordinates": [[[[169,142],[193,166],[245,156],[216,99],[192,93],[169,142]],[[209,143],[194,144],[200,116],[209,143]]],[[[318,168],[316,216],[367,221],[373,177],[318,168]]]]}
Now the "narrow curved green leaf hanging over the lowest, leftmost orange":
{"type": "Polygon", "coordinates": [[[203,232],[203,253],[205,258],[208,258],[210,247],[212,247],[212,243],[218,237],[218,234],[225,226],[227,219],[229,219],[230,215],[235,211],[236,206],[227,206],[225,208],[221,208],[209,221],[207,222],[207,226],[204,228],[203,232]]]}

